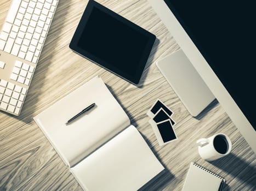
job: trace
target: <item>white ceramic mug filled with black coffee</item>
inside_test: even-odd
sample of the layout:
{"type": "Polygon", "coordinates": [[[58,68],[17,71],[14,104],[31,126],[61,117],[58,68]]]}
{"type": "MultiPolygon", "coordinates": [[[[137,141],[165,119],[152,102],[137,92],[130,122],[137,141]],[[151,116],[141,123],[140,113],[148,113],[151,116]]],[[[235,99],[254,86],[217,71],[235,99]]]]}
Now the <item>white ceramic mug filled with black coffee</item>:
{"type": "Polygon", "coordinates": [[[218,133],[209,138],[203,138],[196,141],[198,152],[202,159],[213,161],[226,156],[231,152],[232,144],[229,137],[218,133]]]}

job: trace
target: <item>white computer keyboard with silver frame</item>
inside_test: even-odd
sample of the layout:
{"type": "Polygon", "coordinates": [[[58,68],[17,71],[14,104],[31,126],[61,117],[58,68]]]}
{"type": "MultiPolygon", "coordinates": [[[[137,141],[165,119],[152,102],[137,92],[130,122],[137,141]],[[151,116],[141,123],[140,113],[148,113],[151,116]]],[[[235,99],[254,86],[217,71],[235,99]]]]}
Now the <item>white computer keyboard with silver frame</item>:
{"type": "Polygon", "coordinates": [[[13,0],[0,33],[0,110],[19,115],[58,0],[13,0]]]}

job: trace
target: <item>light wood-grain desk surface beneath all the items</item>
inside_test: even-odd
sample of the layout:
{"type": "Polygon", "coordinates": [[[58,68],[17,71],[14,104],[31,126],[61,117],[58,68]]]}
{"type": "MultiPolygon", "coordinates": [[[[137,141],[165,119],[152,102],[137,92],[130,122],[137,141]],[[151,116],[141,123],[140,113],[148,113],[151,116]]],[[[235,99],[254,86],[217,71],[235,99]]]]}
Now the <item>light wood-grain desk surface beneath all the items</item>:
{"type": "MultiPolygon", "coordinates": [[[[179,46],[149,3],[98,0],[158,38],[138,88],[69,49],[87,2],[59,2],[21,115],[0,112],[0,190],[82,190],[32,117],[96,75],[102,77],[167,169],[146,190],[181,190],[190,162],[225,177],[225,190],[255,190],[255,154],[223,108],[215,102],[199,118],[191,117],[157,69],[157,59],[177,51],[179,46]],[[177,122],[178,140],[162,147],[158,146],[146,116],[157,98],[174,111],[173,119],[177,122]],[[205,162],[198,155],[195,142],[219,132],[230,137],[232,152],[215,162],[205,162]]],[[[10,3],[10,0],[0,1],[0,27],[10,3]]]]}

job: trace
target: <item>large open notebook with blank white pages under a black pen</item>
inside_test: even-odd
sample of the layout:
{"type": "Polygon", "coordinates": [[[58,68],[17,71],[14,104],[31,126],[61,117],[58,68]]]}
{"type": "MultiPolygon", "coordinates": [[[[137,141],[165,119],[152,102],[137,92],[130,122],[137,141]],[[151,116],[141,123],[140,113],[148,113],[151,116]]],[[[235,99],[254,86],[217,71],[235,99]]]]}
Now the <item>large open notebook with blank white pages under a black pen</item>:
{"type": "Polygon", "coordinates": [[[34,120],[85,190],[138,190],[164,169],[100,77],[34,120]]]}

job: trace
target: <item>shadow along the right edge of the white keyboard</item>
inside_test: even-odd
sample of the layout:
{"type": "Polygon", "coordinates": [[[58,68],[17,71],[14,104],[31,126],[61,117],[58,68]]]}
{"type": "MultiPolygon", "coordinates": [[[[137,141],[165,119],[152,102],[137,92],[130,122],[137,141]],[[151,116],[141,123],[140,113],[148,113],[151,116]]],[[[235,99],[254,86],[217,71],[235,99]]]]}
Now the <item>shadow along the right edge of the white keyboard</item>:
{"type": "Polygon", "coordinates": [[[42,92],[42,87],[44,84],[45,76],[49,65],[52,64],[52,57],[55,51],[55,44],[58,41],[62,28],[67,21],[67,11],[69,11],[71,1],[59,1],[58,6],[53,17],[52,25],[49,29],[47,38],[45,39],[44,47],[42,49],[41,56],[39,57],[39,62],[31,81],[29,91],[25,99],[25,103],[22,106],[21,114],[19,116],[9,115],[10,117],[15,117],[25,123],[29,123],[32,119],[32,115],[35,112],[35,105],[38,102],[38,97],[42,92]],[[50,38],[49,38],[50,37],[50,38]],[[45,53],[50,52],[48,55],[45,53]],[[40,59],[41,58],[41,59],[40,59]],[[44,58],[44,59],[42,59],[44,58]]]}

